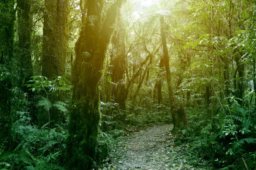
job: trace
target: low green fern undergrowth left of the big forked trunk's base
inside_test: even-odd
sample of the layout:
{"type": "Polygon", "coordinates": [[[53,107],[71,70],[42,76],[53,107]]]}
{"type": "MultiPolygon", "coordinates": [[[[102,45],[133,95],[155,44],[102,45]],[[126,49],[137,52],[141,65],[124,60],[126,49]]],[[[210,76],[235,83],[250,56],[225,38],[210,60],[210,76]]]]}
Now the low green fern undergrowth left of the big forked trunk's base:
{"type": "Polygon", "coordinates": [[[0,152],[0,167],[3,170],[64,170],[65,125],[49,129],[32,125],[26,112],[18,112],[18,119],[12,126],[14,150],[0,152]]]}

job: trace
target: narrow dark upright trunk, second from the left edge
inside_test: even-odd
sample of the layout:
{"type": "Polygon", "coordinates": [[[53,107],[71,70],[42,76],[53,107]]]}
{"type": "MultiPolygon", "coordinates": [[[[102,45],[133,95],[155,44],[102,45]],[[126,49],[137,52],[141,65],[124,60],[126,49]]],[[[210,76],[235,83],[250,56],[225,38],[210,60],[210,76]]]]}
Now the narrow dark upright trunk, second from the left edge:
{"type": "Polygon", "coordinates": [[[32,91],[26,87],[26,82],[33,76],[32,55],[31,55],[31,32],[32,32],[32,17],[30,12],[30,0],[17,0],[17,16],[18,16],[18,37],[20,48],[20,86],[24,93],[29,97],[33,95],[32,91]]]}

